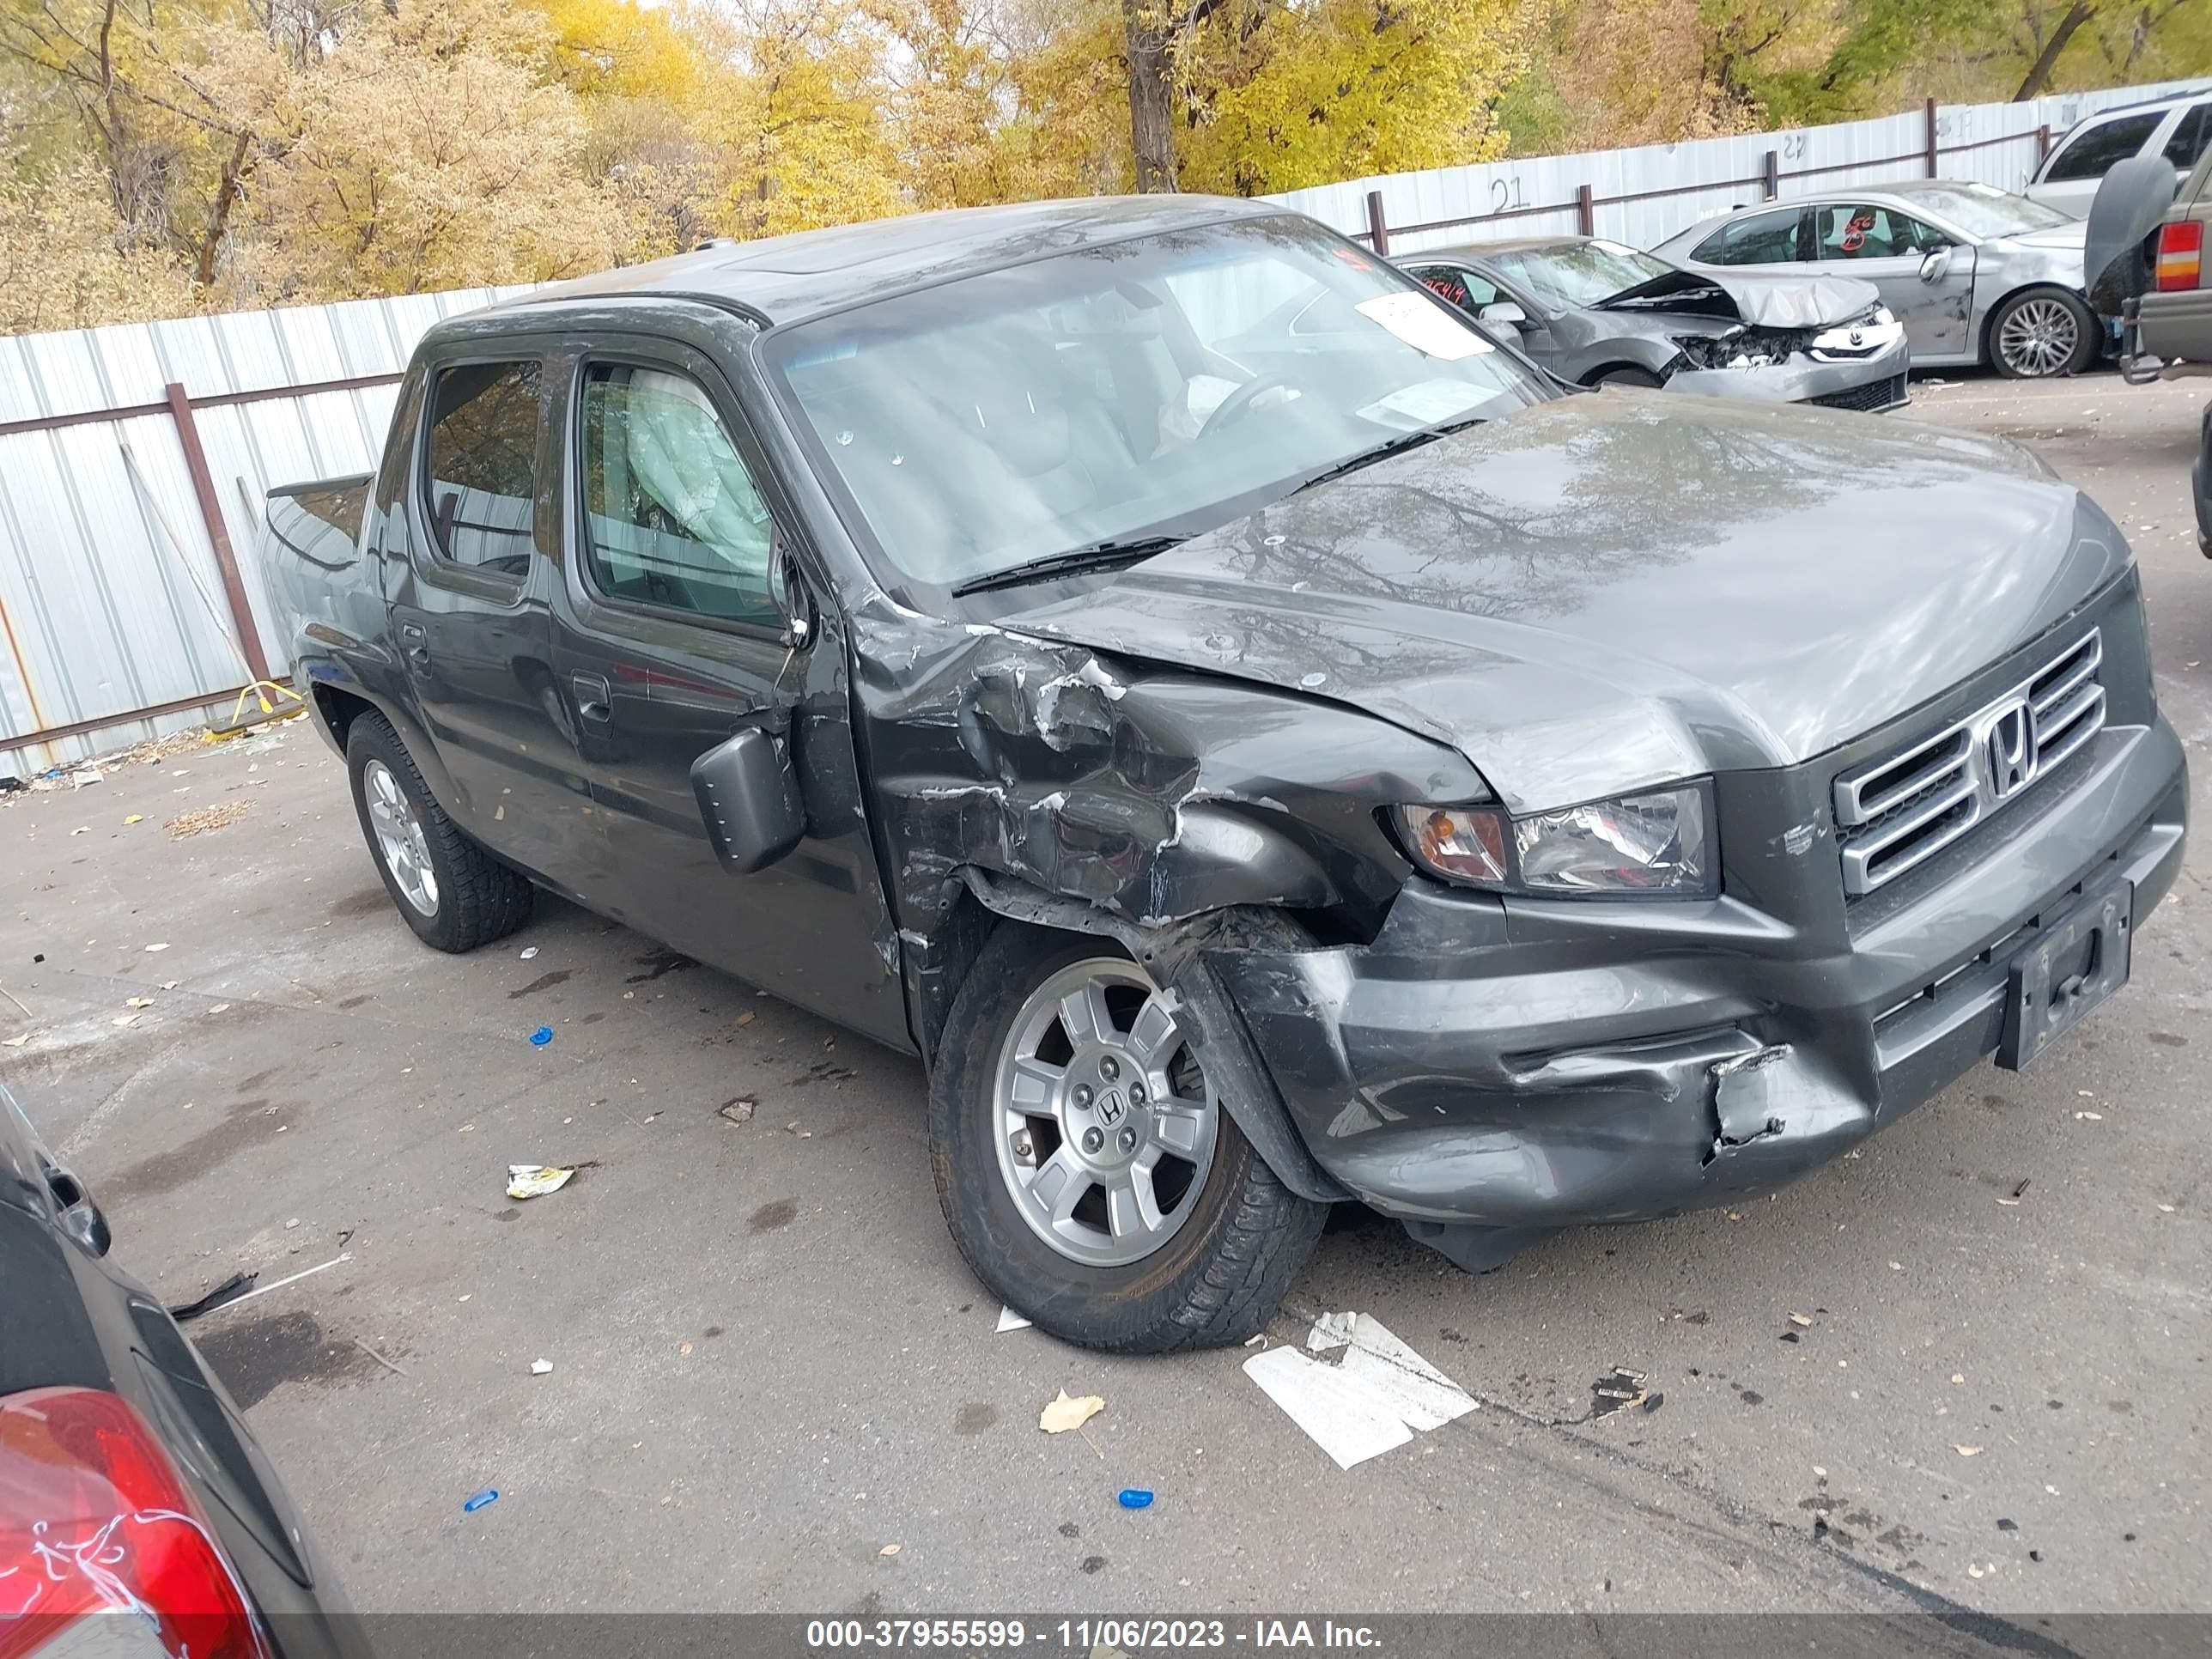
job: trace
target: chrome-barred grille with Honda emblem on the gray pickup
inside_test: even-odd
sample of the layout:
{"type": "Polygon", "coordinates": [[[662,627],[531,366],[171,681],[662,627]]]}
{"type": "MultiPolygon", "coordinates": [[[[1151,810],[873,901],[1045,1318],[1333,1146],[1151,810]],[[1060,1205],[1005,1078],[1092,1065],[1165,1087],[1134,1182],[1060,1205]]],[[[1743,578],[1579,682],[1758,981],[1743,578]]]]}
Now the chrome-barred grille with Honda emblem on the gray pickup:
{"type": "Polygon", "coordinates": [[[1860,898],[1927,863],[2097,737],[2101,664],[2093,628],[1955,726],[1836,779],[1843,891],[1860,898]]]}

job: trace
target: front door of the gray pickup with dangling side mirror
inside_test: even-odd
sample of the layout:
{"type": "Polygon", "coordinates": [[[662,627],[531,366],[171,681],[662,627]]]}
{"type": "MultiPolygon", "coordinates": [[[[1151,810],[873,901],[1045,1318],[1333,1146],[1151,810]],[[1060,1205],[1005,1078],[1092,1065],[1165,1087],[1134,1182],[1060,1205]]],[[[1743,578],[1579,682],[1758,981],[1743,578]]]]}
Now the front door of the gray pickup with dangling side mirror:
{"type": "Polygon", "coordinates": [[[812,560],[721,372],[734,319],[599,332],[564,376],[555,661],[602,825],[591,900],[686,956],[911,1046],[898,942],[860,814],[834,595],[792,639],[772,562],[812,560]],[[679,338],[668,338],[677,334],[679,338]],[[714,856],[690,768],[737,730],[787,737],[807,838],[768,869],[714,856]]]}

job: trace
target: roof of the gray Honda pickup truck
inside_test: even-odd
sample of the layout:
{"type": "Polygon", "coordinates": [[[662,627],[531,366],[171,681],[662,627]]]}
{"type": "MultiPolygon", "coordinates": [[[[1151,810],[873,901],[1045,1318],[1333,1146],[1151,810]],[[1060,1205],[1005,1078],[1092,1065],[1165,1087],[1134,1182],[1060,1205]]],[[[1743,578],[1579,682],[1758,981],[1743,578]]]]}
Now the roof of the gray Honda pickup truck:
{"type": "Polygon", "coordinates": [[[1046,252],[1283,212],[1290,208],[1272,201],[1194,195],[947,208],[759,241],[710,243],[646,265],[551,283],[456,321],[524,321],[566,301],[655,296],[734,303],[768,325],[796,323],[854,301],[1018,265],[1046,252]]]}

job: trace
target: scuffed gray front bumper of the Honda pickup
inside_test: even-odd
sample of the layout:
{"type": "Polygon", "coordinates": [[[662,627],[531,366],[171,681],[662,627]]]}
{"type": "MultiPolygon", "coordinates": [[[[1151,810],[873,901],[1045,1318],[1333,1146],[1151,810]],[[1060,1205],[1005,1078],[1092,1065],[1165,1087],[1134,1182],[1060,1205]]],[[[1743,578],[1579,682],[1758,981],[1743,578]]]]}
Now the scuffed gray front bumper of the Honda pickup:
{"type": "Polygon", "coordinates": [[[2011,962],[2084,894],[2159,905],[2188,776],[2146,717],[1856,907],[1834,832],[1787,816],[1825,799],[1825,757],[1719,781],[1723,856],[1756,849],[1719,900],[1413,878],[1374,945],[1212,962],[1314,1159],[1387,1214],[1557,1228],[1774,1190],[1995,1053],[2011,962]],[[1832,909],[1798,902],[1820,889],[1832,909]]]}

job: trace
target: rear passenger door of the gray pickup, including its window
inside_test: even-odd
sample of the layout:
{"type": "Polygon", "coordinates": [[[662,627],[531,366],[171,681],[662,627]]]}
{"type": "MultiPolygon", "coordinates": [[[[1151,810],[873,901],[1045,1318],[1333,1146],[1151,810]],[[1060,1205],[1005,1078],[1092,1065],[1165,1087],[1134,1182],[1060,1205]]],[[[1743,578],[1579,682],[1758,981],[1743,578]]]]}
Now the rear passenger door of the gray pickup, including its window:
{"type": "Polygon", "coordinates": [[[553,681],[546,343],[456,343],[425,378],[392,644],[451,779],[440,805],[577,891],[597,834],[553,681]]]}

